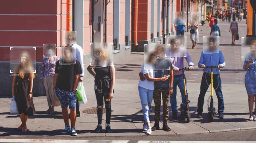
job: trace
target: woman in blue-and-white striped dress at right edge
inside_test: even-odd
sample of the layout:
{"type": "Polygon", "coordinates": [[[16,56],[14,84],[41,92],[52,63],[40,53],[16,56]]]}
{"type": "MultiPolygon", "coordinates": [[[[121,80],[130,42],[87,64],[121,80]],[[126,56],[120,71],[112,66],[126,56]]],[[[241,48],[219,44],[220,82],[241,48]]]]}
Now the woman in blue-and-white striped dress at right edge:
{"type": "Polygon", "coordinates": [[[248,95],[249,121],[256,121],[256,115],[253,118],[253,102],[256,99],[256,49],[251,46],[256,46],[256,40],[250,43],[250,53],[245,56],[243,68],[247,70],[247,73],[244,77],[244,84],[248,95]]]}

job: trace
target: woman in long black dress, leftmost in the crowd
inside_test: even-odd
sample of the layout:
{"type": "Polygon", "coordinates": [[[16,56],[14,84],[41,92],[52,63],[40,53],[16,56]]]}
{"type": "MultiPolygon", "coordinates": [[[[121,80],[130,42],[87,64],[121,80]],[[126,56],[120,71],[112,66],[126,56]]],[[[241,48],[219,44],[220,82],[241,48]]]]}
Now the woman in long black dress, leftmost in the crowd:
{"type": "Polygon", "coordinates": [[[17,128],[22,132],[27,131],[26,121],[32,115],[34,115],[35,107],[32,98],[33,81],[35,70],[32,67],[31,58],[27,51],[23,51],[20,55],[20,60],[26,58],[26,62],[20,62],[15,67],[14,73],[18,76],[14,76],[12,80],[12,96],[15,96],[18,112],[20,115],[21,125],[17,128]]]}

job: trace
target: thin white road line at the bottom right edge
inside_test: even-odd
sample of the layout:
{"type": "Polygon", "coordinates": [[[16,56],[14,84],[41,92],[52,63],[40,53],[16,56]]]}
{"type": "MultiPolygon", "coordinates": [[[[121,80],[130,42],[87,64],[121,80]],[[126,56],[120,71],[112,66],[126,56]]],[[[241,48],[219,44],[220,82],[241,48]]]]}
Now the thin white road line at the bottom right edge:
{"type": "MultiPolygon", "coordinates": [[[[139,140],[138,143],[248,143],[248,141],[145,141],[139,140]]],[[[256,141],[250,141],[256,143],[256,141]]]]}

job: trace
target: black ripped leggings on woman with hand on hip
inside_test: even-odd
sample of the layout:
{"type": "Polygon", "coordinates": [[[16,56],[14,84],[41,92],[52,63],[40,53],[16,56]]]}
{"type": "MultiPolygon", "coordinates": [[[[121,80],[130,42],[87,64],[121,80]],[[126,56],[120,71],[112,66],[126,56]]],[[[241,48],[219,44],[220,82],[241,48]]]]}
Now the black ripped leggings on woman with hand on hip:
{"type": "MultiPolygon", "coordinates": [[[[107,94],[108,95],[108,94],[107,94]]],[[[96,100],[97,100],[97,115],[98,115],[98,123],[102,123],[102,115],[103,115],[103,100],[105,101],[105,107],[106,107],[106,123],[110,123],[111,119],[111,100],[107,101],[107,98],[104,96],[104,93],[96,94],[96,100]]]]}

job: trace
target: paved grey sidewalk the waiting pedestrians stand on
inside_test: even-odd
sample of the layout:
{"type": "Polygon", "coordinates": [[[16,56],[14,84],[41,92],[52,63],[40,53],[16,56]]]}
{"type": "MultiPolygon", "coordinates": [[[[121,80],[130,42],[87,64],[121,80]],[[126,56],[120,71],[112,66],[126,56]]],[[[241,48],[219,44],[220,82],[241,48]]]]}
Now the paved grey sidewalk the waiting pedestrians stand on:
{"type": "MultiPolygon", "coordinates": [[[[239,23],[240,24],[240,23],[239,23]]],[[[227,36],[228,39],[231,39],[230,33],[225,32],[224,28],[229,27],[227,23],[220,23],[221,28],[223,29],[221,35],[227,36]]],[[[246,26],[245,26],[246,27],[246,26]]],[[[243,28],[242,30],[244,30],[243,28]]],[[[202,32],[200,36],[206,36],[207,28],[206,25],[201,26],[202,32]]],[[[226,29],[225,29],[226,30],[226,29]]],[[[241,28],[239,28],[241,30],[241,28]]],[[[244,30],[245,31],[245,30],[244,30]]],[[[240,31],[239,31],[240,32],[240,31]]],[[[188,33],[186,33],[188,34],[188,33]]],[[[239,33],[239,35],[244,35],[244,32],[239,33]]],[[[208,35],[207,35],[208,36],[208,35]]],[[[199,60],[198,55],[201,54],[200,42],[197,45],[197,49],[193,50],[189,48],[189,35],[187,36],[188,51],[190,56],[192,56],[193,62],[197,65],[199,60]]],[[[200,37],[201,40],[201,37],[200,37]]],[[[228,41],[227,41],[228,43],[228,41]]],[[[238,43],[238,42],[237,42],[238,43]]],[[[235,82],[233,79],[236,79],[234,75],[243,75],[244,72],[241,71],[241,66],[237,70],[233,67],[234,55],[228,55],[228,50],[232,47],[223,44],[223,53],[225,56],[226,71],[221,73],[222,78],[222,92],[224,95],[224,119],[214,118],[212,123],[208,121],[207,115],[207,99],[210,95],[210,88],[205,96],[204,103],[204,114],[203,119],[196,118],[196,109],[197,109],[197,99],[200,92],[200,83],[201,83],[201,74],[202,71],[199,68],[195,68],[195,73],[187,74],[187,89],[189,94],[189,108],[191,110],[191,122],[186,123],[179,120],[173,120],[171,118],[171,113],[169,114],[168,126],[172,129],[171,132],[165,132],[163,130],[154,131],[152,135],[180,135],[180,134],[192,134],[192,133],[209,133],[209,132],[224,132],[224,131],[233,131],[233,130],[244,130],[244,129],[256,129],[255,121],[248,121],[248,101],[247,93],[243,83],[235,82]],[[230,56],[230,57],[229,57],[230,56]],[[192,75],[194,74],[193,78],[192,75]],[[195,75],[197,74],[197,75],[195,75]],[[227,75],[227,76],[224,76],[227,75]],[[229,75],[229,76],[228,76],[229,75]],[[196,76],[196,78],[195,78],[196,76]],[[189,81],[193,80],[193,81],[189,81]],[[225,83],[225,81],[229,81],[225,83]],[[233,83],[233,84],[228,84],[233,83]]],[[[191,47],[191,46],[190,46],[191,47]]],[[[238,46],[239,47],[239,46],[238,46]]],[[[241,47],[241,46],[240,46],[241,47]]],[[[240,48],[241,49],[241,48],[240,48]]],[[[239,55],[237,55],[239,56],[239,55]]],[[[240,56],[241,57],[241,56],[240,56]]],[[[97,115],[96,114],[85,114],[82,113],[85,109],[96,108],[96,98],[94,94],[94,79],[90,76],[87,79],[84,79],[84,87],[87,91],[88,103],[80,105],[80,114],[81,116],[76,119],[76,130],[78,132],[78,137],[102,137],[102,136],[141,136],[145,135],[145,132],[142,131],[143,128],[143,112],[140,104],[140,97],[138,95],[138,82],[139,77],[138,73],[140,72],[141,65],[143,64],[143,55],[140,54],[130,54],[125,56],[123,59],[115,63],[116,67],[116,83],[115,83],[115,94],[112,101],[112,118],[111,118],[111,128],[113,133],[105,133],[101,131],[99,133],[94,133],[94,129],[97,126],[97,115]]],[[[186,64],[185,64],[186,65],[186,64]]],[[[86,69],[86,68],[85,68],[86,69]]],[[[215,94],[215,92],[214,92],[215,94]]],[[[214,106],[217,109],[217,98],[214,95],[214,106]]],[[[68,135],[61,135],[61,131],[64,129],[64,121],[61,115],[61,107],[55,107],[54,115],[46,115],[45,111],[47,110],[47,99],[46,97],[34,97],[34,104],[37,114],[32,116],[27,121],[27,127],[29,132],[22,133],[16,128],[20,126],[20,118],[17,115],[10,115],[10,101],[11,98],[0,98],[0,136],[26,136],[26,137],[67,137],[68,135]]],[[[177,105],[181,103],[181,96],[179,92],[177,93],[177,105]]],[[[169,104],[170,105],[170,104],[169,104]]],[[[151,112],[150,119],[154,121],[154,102],[152,103],[153,112],[151,112]]],[[[177,107],[179,109],[179,107],[177,107]]],[[[178,113],[178,117],[180,112],[178,113]]],[[[218,117],[218,115],[216,115],[218,117]]],[[[161,116],[162,119],[162,116],[161,116]]],[[[103,115],[102,127],[105,129],[105,114],[103,115]]],[[[153,126],[154,123],[151,123],[153,126]]],[[[162,128],[162,124],[160,124],[162,128]]]]}

